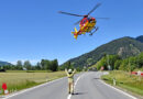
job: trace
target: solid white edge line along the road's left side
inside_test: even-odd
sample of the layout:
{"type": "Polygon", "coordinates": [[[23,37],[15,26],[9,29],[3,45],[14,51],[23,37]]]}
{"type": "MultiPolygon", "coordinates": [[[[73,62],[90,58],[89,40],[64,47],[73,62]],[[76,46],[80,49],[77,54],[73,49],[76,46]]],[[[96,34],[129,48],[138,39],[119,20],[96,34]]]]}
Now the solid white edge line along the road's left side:
{"type": "Polygon", "coordinates": [[[59,79],[55,79],[55,80],[52,80],[52,81],[48,81],[48,82],[45,82],[45,84],[42,84],[42,85],[38,85],[38,86],[35,86],[35,87],[32,87],[32,88],[29,88],[29,89],[24,89],[24,90],[18,91],[18,92],[15,92],[15,94],[12,94],[12,95],[9,95],[9,96],[6,96],[6,97],[2,98],[2,99],[9,99],[9,98],[11,98],[11,97],[14,97],[14,96],[21,95],[21,94],[23,94],[23,92],[26,92],[26,91],[30,91],[30,90],[33,90],[33,89],[40,88],[40,87],[45,86],[45,85],[48,85],[48,84],[53,84],[53,82],[58,81],[58,80],[64,79],[64,78],[65,78],[65,77],[59,78],[59,79]]]}

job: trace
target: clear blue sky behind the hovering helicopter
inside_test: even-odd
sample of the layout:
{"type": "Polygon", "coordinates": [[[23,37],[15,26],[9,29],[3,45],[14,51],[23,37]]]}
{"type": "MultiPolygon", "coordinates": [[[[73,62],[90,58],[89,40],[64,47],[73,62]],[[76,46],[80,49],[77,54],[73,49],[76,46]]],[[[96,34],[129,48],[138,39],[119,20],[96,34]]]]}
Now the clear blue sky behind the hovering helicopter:
{"type": "Polygon", "coordinates": [[[58,59],[59,64],[88,53],[112,40],[143,35],[143,0],[0,0],[0,61],[58,59]],[[87,14],[97,3],[101,6],[91,16],[97,20],[92,36],[72,31],[81,18],[57,13],[65,11],[87,14]]]}

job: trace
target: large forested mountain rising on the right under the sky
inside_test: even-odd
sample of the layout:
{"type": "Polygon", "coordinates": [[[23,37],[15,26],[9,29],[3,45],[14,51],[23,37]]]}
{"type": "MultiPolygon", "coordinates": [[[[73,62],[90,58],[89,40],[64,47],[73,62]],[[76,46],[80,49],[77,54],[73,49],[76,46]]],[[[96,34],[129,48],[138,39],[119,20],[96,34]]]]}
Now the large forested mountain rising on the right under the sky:
{"type": "Polygon", "coordinates": [[[103,44],[94,51],[72,58],[70,62],[75,67],[90,66],[96,64],[105,54],[116,54],[121,58],[138,55],[143,52],[143,36],[136,38],[122,37],[103,44]]]}

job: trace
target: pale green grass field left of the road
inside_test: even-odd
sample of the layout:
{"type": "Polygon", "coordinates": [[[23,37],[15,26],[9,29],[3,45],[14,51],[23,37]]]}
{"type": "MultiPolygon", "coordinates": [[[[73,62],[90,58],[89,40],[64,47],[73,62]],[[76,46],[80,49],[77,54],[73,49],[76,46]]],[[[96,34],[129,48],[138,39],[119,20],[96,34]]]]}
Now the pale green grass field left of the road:
{"type": "MultiPolygon", "coordinates": [[[[7,72],[0,73],[0,86],[7,82],[10,92],[30,88],[66,76],[65,72],[7,72]]],[[[1,87],[0,87],[1,90],[1,87]]]]}

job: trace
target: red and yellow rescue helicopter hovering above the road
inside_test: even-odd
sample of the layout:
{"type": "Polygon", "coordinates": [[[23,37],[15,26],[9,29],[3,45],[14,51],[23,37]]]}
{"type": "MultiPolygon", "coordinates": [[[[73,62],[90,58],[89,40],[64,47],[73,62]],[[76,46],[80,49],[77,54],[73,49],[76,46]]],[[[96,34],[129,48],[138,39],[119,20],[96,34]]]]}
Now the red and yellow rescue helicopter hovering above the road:
{"type": "Polygon", "coordinates": [[[97,20],[96,19],[108,19],[108,18],[94,18],[90,16],[90,14],[98,8],[100,7],[101,3],[98,3],[94,7],[92,10],[90,10],[87,14],[80,15],[80,14],[74,14],[74,13],[68,13],[68,12],[63,12],[59,11],[62,14],[67,14],[67,15],[74,15],[74,16],[82,16],[82,19],[75,24],[79,23],[79,30],[75,28],[75,31],[72,32],[74,34],[74,37],[77,40],[78,35],[89,33],[89,35],[92,35],[99,28],[96,26],[97,20]]]}

